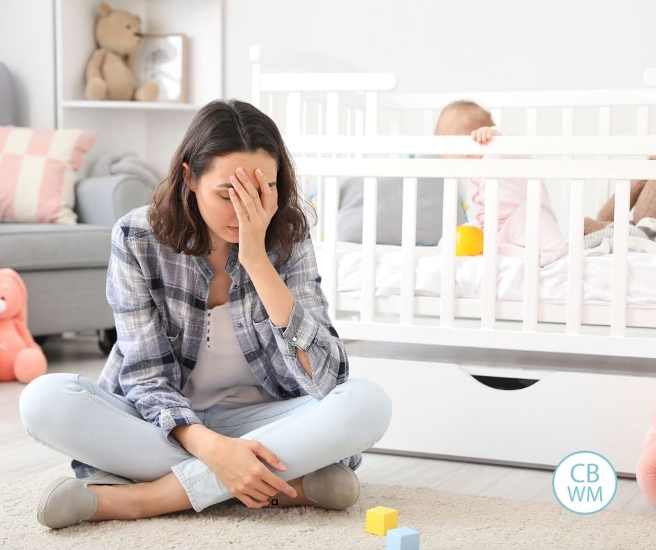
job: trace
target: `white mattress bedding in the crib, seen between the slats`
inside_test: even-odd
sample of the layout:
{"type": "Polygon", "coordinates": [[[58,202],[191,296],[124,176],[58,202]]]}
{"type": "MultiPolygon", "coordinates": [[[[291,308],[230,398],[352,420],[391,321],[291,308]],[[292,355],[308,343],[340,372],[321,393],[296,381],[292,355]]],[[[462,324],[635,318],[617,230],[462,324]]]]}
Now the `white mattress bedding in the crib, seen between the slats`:
{"type": "MultiPolygon", "coordinates": [[[[325,246],[315,242],[320,274],[327,270],[325,246]]],[[[360,296],[362,245],[337,243],[337,291],[345,296],[360,296]]],[[[376,296],[401,294],[401,246],[376,246],[376,296]]],[[[415,296],[440,296],[441,255],[438,246],[415,248],[415,296]]],[[[523,301],[524,260],[498,256],[497,299],[523,301]]],[[[539,302],[567,303],[567,256],[540,269],[539,302]]],[[[613,256],[583,258],[583,304],[609,305],[612,296],[613,256]]],[[[656,254],[628,253],[627,305],[656,309],[656,254]]],[[[456,298],[480,299],[483,283],[483,256],[456,258],[456,298]]]]}

